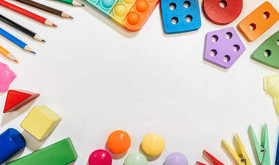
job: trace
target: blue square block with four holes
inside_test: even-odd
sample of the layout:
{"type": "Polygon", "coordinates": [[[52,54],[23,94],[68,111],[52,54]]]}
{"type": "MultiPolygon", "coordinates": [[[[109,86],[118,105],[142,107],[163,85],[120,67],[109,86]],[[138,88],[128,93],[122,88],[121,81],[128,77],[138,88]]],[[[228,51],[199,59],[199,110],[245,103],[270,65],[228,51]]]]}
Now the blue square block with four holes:
{"type": "Polygon", "coordinates": [[[190,32],[201,26],[198,0],[162,0],[161,9],[166,34],[190,32]]]}

